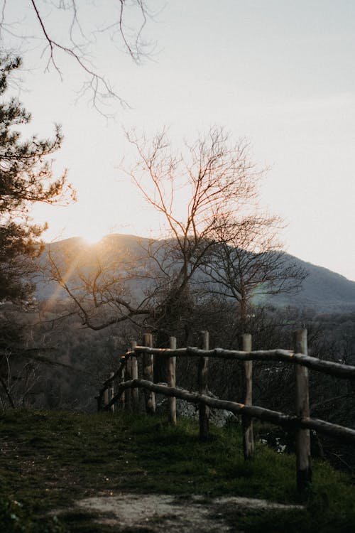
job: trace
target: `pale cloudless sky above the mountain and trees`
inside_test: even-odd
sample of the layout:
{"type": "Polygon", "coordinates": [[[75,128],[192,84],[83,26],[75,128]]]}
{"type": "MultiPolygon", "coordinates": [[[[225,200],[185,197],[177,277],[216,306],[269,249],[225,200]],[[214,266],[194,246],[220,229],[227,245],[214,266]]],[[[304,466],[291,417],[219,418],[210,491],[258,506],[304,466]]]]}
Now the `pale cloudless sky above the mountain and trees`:
{"type": "MultiPolygon", "coordinates": [[[[88,50],[129,103],[107,102],[114,119],[88,95],[78,98],[84,75],[75,62],[58,54],[62,80],[53,68],[45,72],[31,1],[7,3],[12,33],[36,37],[2,33],[4,45],[23,56],[21,88],[13,92],[33,115],[27,134],[50,136],[62,124],[54,168],[67,168],[77,190],[74,205],[33,210],[36,222],[48,221],[43,238],[158,235],[158,217],[122,170],[123,158],[132,157],[124,129],[153,135],[168,126],[178,146],[217,124],[233,139],[249,139],[253,160],[268,167],[260,205],[283,217],[286,251],[355,281],[355,2],[147,3],[155,15],[143,35],[155,48],[141,65],[108,34],[96,33],[88,50]]],[[[77,0],[84,31],[112,21],[109,4],[77,0]]],[[[38,6],[48,28],[66,38],[67,19],[48,2],[38,6]]],[[[129,16],[134,26],[138,14],[129,16]]]]}

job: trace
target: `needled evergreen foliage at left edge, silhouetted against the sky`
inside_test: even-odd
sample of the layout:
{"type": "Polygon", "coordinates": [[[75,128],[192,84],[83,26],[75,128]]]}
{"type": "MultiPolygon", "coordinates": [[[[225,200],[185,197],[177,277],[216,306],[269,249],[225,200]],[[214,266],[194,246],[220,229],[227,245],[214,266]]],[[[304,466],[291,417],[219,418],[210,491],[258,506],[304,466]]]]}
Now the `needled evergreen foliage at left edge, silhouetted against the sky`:
{"type": "Polygon", "coordinates": [[[9,76],[20,65],[20,58],[0,54],[0,301],[18,301],[31,289],[31,258],[40,252],[38,237],[45,229],[31,223],[31,206],[55,203],[65,192],[65,173],[53,179],[48,161],[60,148],[60,127],[53,139],[23,141],[16,126],[28,124],[31,114],[16,98],[4,101],[9,76]]]}

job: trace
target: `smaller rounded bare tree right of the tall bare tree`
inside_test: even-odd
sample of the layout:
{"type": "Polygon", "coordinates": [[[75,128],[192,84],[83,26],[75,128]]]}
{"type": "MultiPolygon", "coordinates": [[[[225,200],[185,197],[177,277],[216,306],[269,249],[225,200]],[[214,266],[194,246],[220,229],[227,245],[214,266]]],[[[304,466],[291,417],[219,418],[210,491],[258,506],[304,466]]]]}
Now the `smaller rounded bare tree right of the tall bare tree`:
{"type": "Polygon", "coordinates": [[[253,298],[295,294],[307,272],[283,252],[277,234],[279,217],[257,212],[237,219],[229,217],[217,228],[216,244],[204,272],[212,292],[236,301],[239,333],[245,333],[253,313],[253,298]]]}

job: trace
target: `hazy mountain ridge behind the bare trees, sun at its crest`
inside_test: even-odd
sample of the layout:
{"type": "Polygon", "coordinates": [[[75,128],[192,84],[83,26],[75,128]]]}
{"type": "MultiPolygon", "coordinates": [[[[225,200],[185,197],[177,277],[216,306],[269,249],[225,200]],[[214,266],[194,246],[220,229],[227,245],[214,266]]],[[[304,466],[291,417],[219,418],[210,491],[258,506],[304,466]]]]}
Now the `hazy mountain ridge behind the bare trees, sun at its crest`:
{"type": "MultiPolygon", "coordinates": [[[[135,285],[131,286],[131,290],[133,293],[136,292],[137,295],[144,286],[145,268],[142,258],[148,242],[148,239],[143,237],[119,234],[108,235],[97,244],[87,244],[80,237],[72,237],[71,239],[46,244],[45,251],[40,257],[40,266],[48,262],[48,257],[55,258],[55,262],[60,263],[62,271],[66,272],[67,281],[77,285],[80,284],[80,279],[75,274],[75,266],[80,266],[81,269],[89,271],[90,264],[101,263],[114,272],[115,267],[113,265],[117,259],[122,263],[138,263],[141,264],[140,270],[143,281],[140,282],[138,288],[135,285]]],[[[290,263],[302,266],[307,271],[308,276],[302,284],[302,289],[293,295],[280,294],[257,298],[259,302],[271,303],[274,306],[310,307],[322,313],[355,309],[355,281],[350,281],[336,272],[322,266],[307,263],[292,255],[286,254],[286,257],[288,257],[290,263]]],[[[39,274],[35,293],[36,298],[46,300],[53,294],[56,294],[57,298],[65,298],[66,296],[65,291],[58,290],[58,284],[44,279],[39,274]]]]}

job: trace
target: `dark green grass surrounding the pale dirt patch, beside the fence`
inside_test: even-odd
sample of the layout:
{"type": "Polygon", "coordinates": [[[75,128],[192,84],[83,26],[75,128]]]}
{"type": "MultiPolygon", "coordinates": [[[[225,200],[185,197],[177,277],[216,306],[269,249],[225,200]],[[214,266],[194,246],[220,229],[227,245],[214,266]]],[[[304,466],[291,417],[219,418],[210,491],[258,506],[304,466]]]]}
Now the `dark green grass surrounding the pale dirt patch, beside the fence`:
{"type": "MultiPolygon", "coordinates": [[[[354,532],[355,480],[326,462],[313,463],[306,510],[233,512],[236,532],[354,532]]],[[[0,530],[6,533],[113,532],[94,515],[68,510],[75,500],[115,492],[165,492],[262,497],[300,502],[295,456],[258,444],[245,462],[239,426],[213,429],[200,443],[197,426],[177,428],[159,418],[59,411],[6,411],[0,415],[0,530]],[[2,527],[1,527],[2,526],[2,527]]],[[[129,533],[129,529],[125,530],[129,533]]]]}

